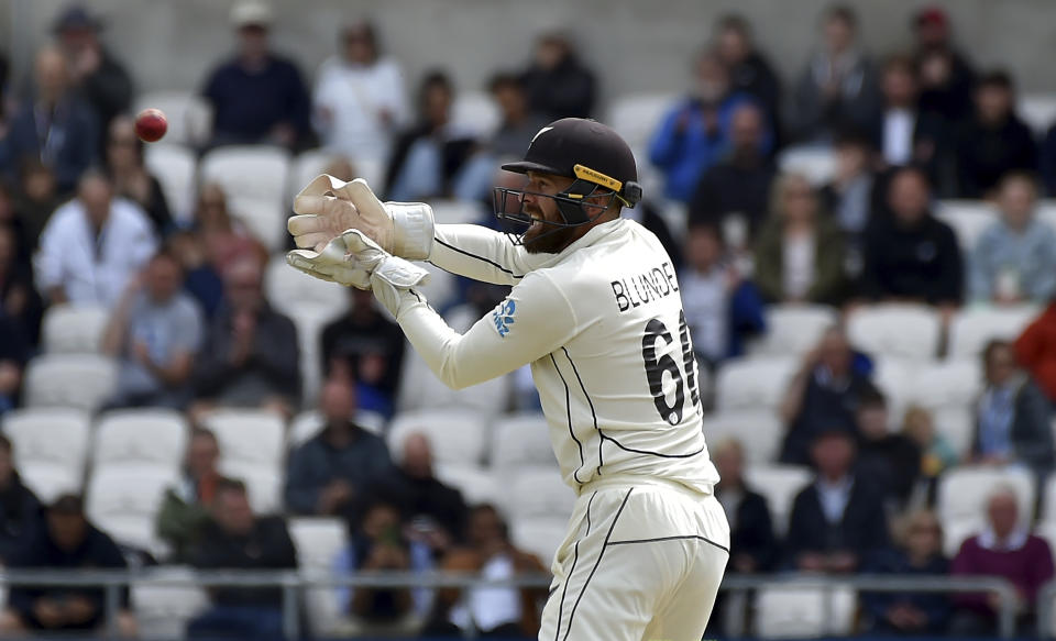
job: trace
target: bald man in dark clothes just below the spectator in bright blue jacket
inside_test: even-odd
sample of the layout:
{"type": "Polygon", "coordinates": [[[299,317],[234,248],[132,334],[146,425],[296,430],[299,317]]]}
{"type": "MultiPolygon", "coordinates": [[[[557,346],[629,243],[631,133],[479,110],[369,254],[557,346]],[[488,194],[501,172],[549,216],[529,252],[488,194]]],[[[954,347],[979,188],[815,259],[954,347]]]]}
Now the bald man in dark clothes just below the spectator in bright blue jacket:
{"type": "Polygon", "coordinates": [[[766,220],[774,178],[773,163],[762,153],[763,113],[755,104],[741,103],[734,109],[729,126],[729,154],[701,176],[690,201],[690,221],[726,225],[729,219],[743,217],[755,237],[766,220]]]}

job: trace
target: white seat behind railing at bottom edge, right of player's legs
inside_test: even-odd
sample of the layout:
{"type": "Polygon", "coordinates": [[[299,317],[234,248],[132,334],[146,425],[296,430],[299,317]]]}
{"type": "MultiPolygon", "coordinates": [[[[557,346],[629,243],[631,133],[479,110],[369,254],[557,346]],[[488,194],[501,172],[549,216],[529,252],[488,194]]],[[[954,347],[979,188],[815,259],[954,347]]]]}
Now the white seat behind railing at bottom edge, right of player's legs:
{"type": "Polygon", "coordinates": [[[856,601],[855,590],[845,586],[765,587],[756,594],[756,633],[762,639],[846,636],[854,625],[856,601]],[[831,599],[827,607],[826,599],[831,599]]]}

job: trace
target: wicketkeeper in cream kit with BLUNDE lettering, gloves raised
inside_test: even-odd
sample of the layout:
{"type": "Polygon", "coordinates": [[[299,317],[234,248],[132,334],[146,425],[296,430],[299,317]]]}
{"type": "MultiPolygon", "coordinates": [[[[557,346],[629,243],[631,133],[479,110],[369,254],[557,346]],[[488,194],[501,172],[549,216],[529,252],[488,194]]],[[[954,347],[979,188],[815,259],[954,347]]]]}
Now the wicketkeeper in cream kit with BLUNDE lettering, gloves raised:
{"type": "Polygon", "coordinates": [[[422,203],[382,203],[363,180],[320,176],[289,221],[290,265],[370,288],[447,385],[521,365],[531,372],[564,480],[579,495],[552,564],[544,641],[700,641],[729,557],[702,432],[693,345],[675,266],[657,237],[620,218],[641,198],[627,143],[563,119],[542,128],[524,189],[495,188],[512,237],[433,224],[422,203]],[[510,285],[459,334],[415,287],[426,259],[510,285]]]}

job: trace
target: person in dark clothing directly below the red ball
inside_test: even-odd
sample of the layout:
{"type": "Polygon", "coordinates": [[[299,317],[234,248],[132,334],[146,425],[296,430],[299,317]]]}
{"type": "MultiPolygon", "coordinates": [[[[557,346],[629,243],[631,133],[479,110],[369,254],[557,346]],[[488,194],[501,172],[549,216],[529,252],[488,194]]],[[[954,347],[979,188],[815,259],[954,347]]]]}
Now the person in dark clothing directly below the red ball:
{"type": "Polygon", "coordinates": [[[167,234],[173,215],[162,184],[143,165],[143,143],[135,136],[135,124],[122,115],[111,120],[108,131],[107,173],[113,180],[114,192],[143,208],[158,236],[167,234]]]}

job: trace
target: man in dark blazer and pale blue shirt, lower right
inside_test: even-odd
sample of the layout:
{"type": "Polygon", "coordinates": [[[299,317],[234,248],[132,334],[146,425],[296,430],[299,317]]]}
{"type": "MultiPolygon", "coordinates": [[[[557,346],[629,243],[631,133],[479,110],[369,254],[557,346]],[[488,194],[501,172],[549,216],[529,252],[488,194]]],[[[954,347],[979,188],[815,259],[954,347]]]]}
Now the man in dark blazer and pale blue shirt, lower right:
{"type": "Polygon", "coordinates": [[[853,573],[888,544],[880,494],[853,473],[854,434],[843,428],[822,431],[811,458],[817,476],[792,504],[787,563],[801,572],[853,573]]]}

